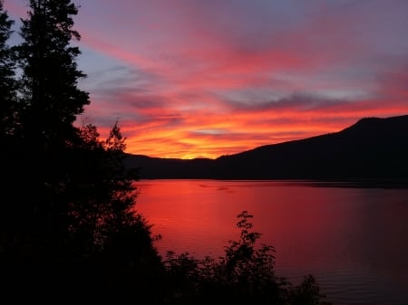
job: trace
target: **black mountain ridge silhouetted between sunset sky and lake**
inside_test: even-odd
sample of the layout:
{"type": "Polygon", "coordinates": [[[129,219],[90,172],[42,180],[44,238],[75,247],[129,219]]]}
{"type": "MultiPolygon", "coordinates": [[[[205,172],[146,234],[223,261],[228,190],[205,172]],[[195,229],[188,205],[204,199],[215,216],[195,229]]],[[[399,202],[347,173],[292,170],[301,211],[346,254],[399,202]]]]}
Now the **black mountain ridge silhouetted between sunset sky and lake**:
{"type": "Polygon", "coordinates": [[[408,181],[408,115],[364,118],[335,133],[216,159],[129,155],[141,178],[408,181]]]}

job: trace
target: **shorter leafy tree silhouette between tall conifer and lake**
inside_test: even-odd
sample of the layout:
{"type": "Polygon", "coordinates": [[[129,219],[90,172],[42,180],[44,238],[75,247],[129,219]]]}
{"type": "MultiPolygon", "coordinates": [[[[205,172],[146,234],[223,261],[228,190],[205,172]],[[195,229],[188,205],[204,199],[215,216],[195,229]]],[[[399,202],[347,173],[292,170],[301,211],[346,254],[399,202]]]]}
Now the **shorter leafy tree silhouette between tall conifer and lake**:
{"type": "Polygon", "coordinates": [[[160,304],[164,268],[153,246],[151,225],[134,209],[133,172],[123,167],[126,148],[116,122],[106,140],[95,126],[79,129],[73,151],[75,170],[67,184],[70,246],[80,257],[86,303],[121,304],[150,300],[160,304]],[[94,293],[94,291],[98,291],[94,293]],[[154,292],[154,293],[152,293],[154,292]]]}

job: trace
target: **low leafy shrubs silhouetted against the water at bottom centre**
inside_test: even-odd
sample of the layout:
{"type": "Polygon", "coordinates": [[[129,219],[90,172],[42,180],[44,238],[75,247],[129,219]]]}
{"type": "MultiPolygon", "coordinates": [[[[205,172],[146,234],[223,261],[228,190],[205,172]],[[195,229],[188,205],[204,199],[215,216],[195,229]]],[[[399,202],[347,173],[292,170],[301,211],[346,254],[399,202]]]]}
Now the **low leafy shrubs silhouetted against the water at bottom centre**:
{"type": "Polygon", "coordinates": [[[275,249],[257,245],[261,234],[252,231],[252,217],[247,211],[238,214],[239,240],[230,241],[219,260],[167,254],[174,304],[329,304],[312,275],[298,286],[276,275],[275,249]]]}

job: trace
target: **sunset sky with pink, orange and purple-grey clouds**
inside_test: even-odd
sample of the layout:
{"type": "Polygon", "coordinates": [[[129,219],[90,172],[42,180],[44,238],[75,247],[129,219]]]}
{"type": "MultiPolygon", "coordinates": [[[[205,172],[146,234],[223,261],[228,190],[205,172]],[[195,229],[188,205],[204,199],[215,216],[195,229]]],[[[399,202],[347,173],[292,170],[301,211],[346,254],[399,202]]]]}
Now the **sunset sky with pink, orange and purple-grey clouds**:
{"type": "MultiPolygon", "coordinates": [[[[78,124],[220,157],[408,114],[408,0],[76,0],[78,124]]],[[[28,0],[5,0],[15,19],[28,0]]]]}

